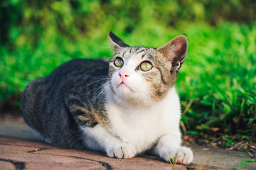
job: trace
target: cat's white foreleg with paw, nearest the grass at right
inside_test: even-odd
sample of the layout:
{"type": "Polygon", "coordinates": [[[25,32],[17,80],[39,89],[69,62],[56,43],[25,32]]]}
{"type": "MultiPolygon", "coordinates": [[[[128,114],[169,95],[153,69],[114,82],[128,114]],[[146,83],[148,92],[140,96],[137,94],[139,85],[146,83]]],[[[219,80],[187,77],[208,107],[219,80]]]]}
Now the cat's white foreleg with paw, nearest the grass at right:
{"type": "Polygon", "coordinates": [[[164,135],[159,139],[153,154],[159,155],[166,162],[169,159],[178,159],[178,164],[189,164],[193,160],[193,153],[188,147],[181,147],[181,137],[177,135],[164,135]]]}

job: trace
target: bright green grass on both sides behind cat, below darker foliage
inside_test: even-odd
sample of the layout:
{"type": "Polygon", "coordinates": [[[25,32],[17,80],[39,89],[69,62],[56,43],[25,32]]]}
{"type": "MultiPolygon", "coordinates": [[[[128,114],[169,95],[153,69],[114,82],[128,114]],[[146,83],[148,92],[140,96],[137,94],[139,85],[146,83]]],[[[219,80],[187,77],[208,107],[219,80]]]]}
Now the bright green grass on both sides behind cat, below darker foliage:
{"type": "MultiPolygon", "coordinates": [[[[110,28],[111,29],[111,28],[110,28]]],[[[188,133],[255,135],[256,131],[256,24],[203,23],[168,28],[141,23],[132,33],[112,29],[129,45],[159,47],[178,34],[188,36],[188,55],[176,88],[181,97],[182,120],[188,133]]],[[[34,47],[18,28],[12,28],[15,47],[0,46],[0,101],[19,98],[29,81],[44,77],[58,65],[75,58],[111,57],[107,28],[75,40],[45,30],[34,47]]],[[[16,100],[18,104],[18,99],[16,100]]]]}

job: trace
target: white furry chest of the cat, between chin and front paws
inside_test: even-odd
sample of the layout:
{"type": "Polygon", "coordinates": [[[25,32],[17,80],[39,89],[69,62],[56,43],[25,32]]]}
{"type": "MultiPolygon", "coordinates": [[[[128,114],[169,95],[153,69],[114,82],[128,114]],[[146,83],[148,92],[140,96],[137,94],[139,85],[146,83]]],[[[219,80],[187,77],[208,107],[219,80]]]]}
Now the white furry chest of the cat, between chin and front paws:
{"type": "Polygon", "coordinates": [[[137,153],[152,147],[162,135],[178,131],[181,116],[178,96],[166,96],[164,101],[143,109],[110,103],[107,112],[110,131],[134,145],[137,153]]]}

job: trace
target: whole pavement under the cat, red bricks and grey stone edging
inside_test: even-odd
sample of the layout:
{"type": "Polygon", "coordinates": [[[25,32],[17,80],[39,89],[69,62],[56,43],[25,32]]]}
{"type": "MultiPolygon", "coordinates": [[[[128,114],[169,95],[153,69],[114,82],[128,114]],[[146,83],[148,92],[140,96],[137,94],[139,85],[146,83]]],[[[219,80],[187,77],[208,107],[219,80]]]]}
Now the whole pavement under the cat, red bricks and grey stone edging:
{"type": "MultiPolygon", "coordinates": [[[[235,162],[246,159],[236,151],[198,145],[188,147],[193,149],[193,163],[176,165],[175,170],[235,169],[238,166],[235,162]]],[[[53,147],[37,140],[19,119],[0,120],[0,169],[171,169],[171,164],[148,155],[113,159],[101,152],[53,147]]],[[[256,164],[247,164],[242,169],[256,169],[256,164]]]]}

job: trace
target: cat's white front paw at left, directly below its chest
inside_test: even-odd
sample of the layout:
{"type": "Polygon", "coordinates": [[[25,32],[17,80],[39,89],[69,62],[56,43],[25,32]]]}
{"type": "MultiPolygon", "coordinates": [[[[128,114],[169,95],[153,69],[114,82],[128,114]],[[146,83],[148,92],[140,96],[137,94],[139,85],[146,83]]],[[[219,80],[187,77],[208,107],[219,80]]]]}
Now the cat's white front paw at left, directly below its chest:
{"type": "Polygon", "coordinates": [[[106,151],[108,157],[117,157],[124,159],[135,157],[136,154],[135,147],[130,145],[129,143],[111,145],[107,147],[106,151]]]}

